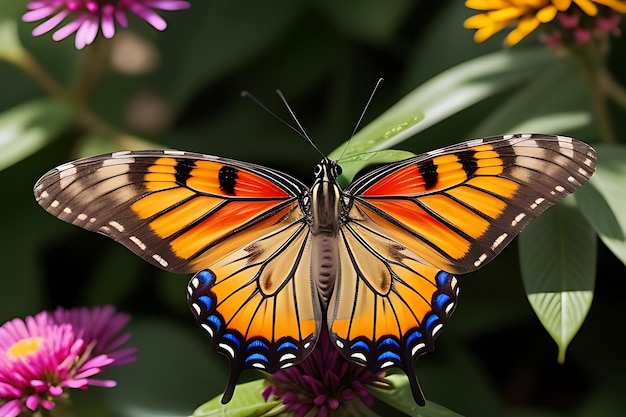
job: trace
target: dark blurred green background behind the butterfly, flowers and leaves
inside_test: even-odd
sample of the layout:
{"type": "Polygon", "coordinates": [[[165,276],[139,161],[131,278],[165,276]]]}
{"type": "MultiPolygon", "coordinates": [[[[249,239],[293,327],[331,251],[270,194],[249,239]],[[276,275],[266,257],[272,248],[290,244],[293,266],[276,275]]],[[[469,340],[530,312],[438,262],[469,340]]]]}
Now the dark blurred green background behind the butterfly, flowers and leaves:
{"type": "MultiPolygon", "coordinates": [[[[320,155],[242,99],[242,90],[289,120],[274,93],[281,89],[309,136],[330,153],[349,138],[379,77],[385,81],[363,124],[441,71],[502,49],[502,37],[473,42],[462,27],[473,13],[461,1],[195,1],[190,10],[164,13],[169,27],[163,33],[134,19],[130,30],[82,51],[73,39],[30,36],[33,25],[19,21],[25,3],[2,0],[0,18],[18,22],[24,47],[61,84],[86,92],[94,114],[133,135],[112,138],[64,123],[65,110],[46,102],[38,83],[0,60],[0,111],[44,106],[41,123],[55,132],[0,171],[0,321],[58,305],[112,303],[132,313],[138,360],[112,372],[119,387],[72,396],[89,410],[85,415],[96,417],[190,414],[222,392],[227,361],[193,324],[185,298],[190,277],[157,270],[105,237],[48,215],[32,195],[44,172],[81,156],[140,146],[141,138],[153,147],[271,166],[309,183],[320,155]]],[[[531,38],[513,49],[537,45],[531,38]]],[[[609,66],[626,84],[626,41],[612,46],[609,66]]],[[[593,144],[597,127],[581,77],[545,56],[523,81],[397,148],[420,153],[516,126],[532,128],[524,123],[554,108],[587,117],[565,131],[542,133],[593,144]]],[[[626,118],[611,111],[618,137],[626,137],[626,118]]],[[[9,124],[2,119],[0,128],[9,124]]],[[[0,137],[0,144],[5,140],[10,138],[0,137]]],[[[470,416],[622,414],[625,278],[624,265],[599,243],[594,302],[559,365],[556,345],[525,296],[512,244],[485,268],[460,277],[460,304],[436,352],[416,367],[426,397],[470,416]]]]}

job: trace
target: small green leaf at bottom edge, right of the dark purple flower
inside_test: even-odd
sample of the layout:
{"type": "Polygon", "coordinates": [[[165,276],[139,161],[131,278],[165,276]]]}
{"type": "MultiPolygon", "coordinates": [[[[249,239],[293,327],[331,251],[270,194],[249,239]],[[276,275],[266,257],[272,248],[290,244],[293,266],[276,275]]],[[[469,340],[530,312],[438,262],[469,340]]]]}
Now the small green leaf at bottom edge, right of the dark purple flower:
{"type": "Polygon", "coordinates": [[[436,404],[426,401],[424,407],[415,403],[409,379],[403,374],[387,375],[387,381],[393,385],[392,389],[369,388],[370,392],[381,401],[413,417],[458,417],[460,414],[436,404]]]}

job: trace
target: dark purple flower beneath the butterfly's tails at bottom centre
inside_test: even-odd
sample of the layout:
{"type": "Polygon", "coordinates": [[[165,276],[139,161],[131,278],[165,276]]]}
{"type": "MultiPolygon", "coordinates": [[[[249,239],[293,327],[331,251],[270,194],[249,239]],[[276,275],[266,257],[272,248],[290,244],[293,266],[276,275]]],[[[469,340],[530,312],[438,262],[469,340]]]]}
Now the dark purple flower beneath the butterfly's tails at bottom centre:
{"type": "Polygon", "coordinates": [[[334,415],[335,410],[356,398],[371,407],[375,399],[367,386],[389,386],[384,372],[374,373],[344,359],[332,345],[326,328],[304,361],[268,378],[270,385],[262,393],[265,401],[276,397],[296,417],[334,415]]]}

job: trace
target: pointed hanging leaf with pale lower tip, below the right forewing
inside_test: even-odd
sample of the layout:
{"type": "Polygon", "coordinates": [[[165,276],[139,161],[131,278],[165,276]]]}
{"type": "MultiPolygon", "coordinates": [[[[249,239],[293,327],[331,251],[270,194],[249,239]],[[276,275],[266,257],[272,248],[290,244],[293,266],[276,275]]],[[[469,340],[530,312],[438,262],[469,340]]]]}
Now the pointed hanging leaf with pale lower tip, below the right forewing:
{"type": "Polygon", "coordinates": [[[559,347],[559,362],[587,316],[595,287],[597,240],[572,201],[546,210],[519,241],[526,294],[559,347]]]}

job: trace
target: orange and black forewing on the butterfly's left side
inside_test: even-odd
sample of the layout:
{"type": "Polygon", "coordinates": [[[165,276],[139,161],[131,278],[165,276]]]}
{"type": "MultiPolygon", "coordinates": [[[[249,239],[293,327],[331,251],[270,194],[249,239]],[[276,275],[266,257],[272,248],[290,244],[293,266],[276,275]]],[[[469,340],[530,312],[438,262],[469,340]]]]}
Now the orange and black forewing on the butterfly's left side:
{"type": "Polygon", "coordinates": [[[269,232],[306,187],[258,165],[181,151],[117,152],[61,165],[35,185],[51,214],[192,273],[269,232]],[[223,244],[229,238],[231,244],[223,244]],[[235,245],[236,246],[236,245],[235,245]]]}

